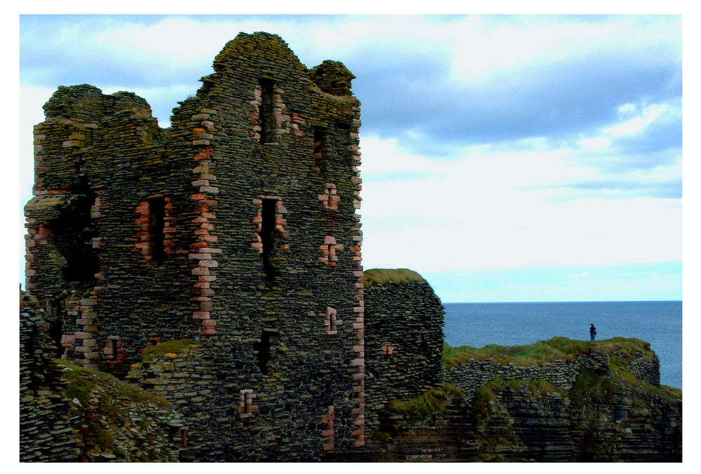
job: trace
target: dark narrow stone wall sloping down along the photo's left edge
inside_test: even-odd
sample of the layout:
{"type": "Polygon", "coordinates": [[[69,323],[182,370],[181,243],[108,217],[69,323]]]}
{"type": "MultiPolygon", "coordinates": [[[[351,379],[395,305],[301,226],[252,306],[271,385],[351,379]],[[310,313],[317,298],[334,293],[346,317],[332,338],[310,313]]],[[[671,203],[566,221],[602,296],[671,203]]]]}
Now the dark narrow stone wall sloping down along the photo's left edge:
{"type": "Polygon", "coordinates": [[[20,461],[72,461],[78,454],[56,348],[36,301],[20,293],[20,461]]]}

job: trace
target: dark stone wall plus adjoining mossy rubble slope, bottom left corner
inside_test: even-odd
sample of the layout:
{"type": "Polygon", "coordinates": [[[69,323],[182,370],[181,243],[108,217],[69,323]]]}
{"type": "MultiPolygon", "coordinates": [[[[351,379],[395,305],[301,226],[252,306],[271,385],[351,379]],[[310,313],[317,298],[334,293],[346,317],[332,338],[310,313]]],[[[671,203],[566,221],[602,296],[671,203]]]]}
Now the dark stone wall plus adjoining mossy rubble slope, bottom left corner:
{"type": "Polygon", "coordinates": [[[36,302],[20,294],[20,461],[177,461],[170,403],[57,360],[36,302]]]}

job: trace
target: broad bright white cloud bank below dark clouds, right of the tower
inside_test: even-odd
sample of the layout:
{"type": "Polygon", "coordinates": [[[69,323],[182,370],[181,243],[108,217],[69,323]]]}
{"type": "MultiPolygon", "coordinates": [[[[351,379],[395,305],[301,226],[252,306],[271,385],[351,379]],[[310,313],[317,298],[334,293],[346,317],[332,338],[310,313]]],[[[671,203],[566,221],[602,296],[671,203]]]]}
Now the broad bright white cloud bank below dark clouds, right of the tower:
{"type": "MultiPolygon", "coordinates": [[[[607,191],[533,189],[604,179],[571,165],[576,150],[465,150],[451,162],[404,155],[393,140],[362,139],[362,169],[423,170],[416,180],[365,180],[363,258],[374,266],[461,271],[529,265],[669,262],[681,259],[679,200],[610,199],[607,191]],[[572,200],[572,197],[576,197],[572,200]]],[[[655,184],[679,168],[611,179],[655,184]]],[[[618,197],[618,196],[614,196],[618,197]]]]}

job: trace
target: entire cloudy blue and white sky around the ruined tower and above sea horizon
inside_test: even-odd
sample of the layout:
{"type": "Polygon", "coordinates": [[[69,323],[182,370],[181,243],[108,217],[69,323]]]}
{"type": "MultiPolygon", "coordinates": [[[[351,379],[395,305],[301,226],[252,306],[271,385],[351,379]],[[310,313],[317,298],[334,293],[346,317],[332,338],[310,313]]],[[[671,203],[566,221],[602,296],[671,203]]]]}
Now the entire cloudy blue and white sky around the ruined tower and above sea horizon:
{"type": "Polygon", "coordinates": [[[24,15],[21,203],[57,86],[133,91],[165,127],[261,30],[358,78],[366,269],[444,302],[681,299],[679,15],[24,15]]]}

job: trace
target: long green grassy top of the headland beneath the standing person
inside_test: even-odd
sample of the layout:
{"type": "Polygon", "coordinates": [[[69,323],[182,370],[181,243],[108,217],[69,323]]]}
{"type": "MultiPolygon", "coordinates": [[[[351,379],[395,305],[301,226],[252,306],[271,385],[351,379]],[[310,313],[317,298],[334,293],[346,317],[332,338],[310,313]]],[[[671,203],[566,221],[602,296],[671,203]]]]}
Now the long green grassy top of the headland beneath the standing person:
{"type": "Polygon", "coordinates": [[[612,367],[622,365],[642,354],[644,360],[653,360],[654,353],[650,344],[641,339],[613,337],[601,341],[576,341],[566,337],[552,337],[546,341],[524,346],[498,346],[488,344],[482,348],[471,346],[452,347],[443,344],[443,365],[452,369],[470,363],[470,359],[492,360],[508,365],[533,366],[550,363],[554,360],[575,360],[578,355],[595,349],[611,355],[612,367]]]}

